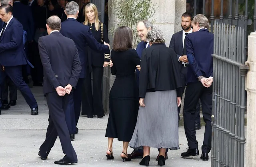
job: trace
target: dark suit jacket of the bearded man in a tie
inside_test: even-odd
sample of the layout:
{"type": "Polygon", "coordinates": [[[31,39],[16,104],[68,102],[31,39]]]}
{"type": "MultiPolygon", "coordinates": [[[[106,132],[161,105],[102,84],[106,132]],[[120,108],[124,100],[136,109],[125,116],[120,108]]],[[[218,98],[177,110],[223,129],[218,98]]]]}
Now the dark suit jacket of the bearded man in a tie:
{"type": "MultiPolygon", "coordinates": [[[[183,55],[182,30],[172,35],[169,47],[175,51],[178,61],[179,57],[183,55]]],[[[178,65],[181,69],[182,61],[178,61],[178,65]]]]}

